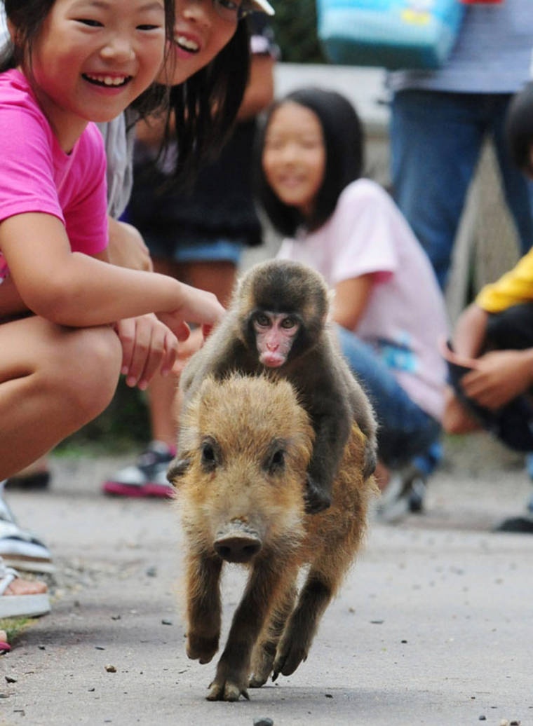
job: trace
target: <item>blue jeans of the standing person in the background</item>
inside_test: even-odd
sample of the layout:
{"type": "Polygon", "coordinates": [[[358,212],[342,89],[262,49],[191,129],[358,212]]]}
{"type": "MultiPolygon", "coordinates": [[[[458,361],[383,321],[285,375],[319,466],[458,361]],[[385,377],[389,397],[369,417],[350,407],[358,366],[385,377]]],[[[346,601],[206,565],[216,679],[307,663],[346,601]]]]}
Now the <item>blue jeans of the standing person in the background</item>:
{"type": "Polygon", "coordinates": [[[468,185],[492,136],[521,254],[533,244],[533,184],[513,165],[505,141],[510,94],[399,91],[391,107],[394,198],[428,253],[444,289],[468,185]]]}

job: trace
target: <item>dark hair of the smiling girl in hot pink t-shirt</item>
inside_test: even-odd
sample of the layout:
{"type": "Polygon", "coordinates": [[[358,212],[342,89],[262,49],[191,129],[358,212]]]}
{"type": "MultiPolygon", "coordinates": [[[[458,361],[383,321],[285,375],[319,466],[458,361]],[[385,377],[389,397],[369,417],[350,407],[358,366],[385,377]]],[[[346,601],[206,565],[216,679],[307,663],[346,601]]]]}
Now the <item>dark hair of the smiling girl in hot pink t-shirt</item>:
{"type": "MultiPolygon", "coordinates": [[[[165,25],[167,41],[174,34],[174,0],[165,2],[165,25]]],[[[55,0],[4,0],[7,19],[15,28],[15,42],[9,41],[0,49],[0,73],[17,68],[25,57],[31,57],[33,46],[41,31],[44,20],[54,7],[55,0]]],[[[31,74],[31,68],[28,68],[31,74]]],[[[165,86],[152,83],[131,106],[143,118],[166,104],[168,91],[165,86]]]]}

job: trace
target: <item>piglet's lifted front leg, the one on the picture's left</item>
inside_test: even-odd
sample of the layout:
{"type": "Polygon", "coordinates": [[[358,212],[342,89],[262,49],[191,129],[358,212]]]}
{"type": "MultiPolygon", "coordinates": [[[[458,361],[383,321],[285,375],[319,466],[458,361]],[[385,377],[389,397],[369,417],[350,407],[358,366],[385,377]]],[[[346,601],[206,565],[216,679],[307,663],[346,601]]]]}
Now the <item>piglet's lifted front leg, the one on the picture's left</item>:
{"type": "Polygon", "coordinates": [[[221,626],[219,558],[190,555],[187,561],[187,656],[209,663],[219,649],[221,626]]]}

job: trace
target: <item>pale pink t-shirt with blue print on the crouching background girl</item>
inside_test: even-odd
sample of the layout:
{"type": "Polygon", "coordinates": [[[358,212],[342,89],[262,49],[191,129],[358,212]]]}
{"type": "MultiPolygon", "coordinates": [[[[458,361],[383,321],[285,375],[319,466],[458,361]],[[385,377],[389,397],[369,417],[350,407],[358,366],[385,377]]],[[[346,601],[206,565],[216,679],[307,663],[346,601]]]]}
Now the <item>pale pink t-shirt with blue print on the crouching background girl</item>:
{"type": "Polygon", "coordinates": [[[444,298],[391,197],[370,179],[351,182],[330,219],[316,232],[284,240],[277,256],[312,266],[331,288],[374,273],[354,333],[373,346],[410,398],[440,419],[447,369],[437,341],[448,331],[444,298]]]}

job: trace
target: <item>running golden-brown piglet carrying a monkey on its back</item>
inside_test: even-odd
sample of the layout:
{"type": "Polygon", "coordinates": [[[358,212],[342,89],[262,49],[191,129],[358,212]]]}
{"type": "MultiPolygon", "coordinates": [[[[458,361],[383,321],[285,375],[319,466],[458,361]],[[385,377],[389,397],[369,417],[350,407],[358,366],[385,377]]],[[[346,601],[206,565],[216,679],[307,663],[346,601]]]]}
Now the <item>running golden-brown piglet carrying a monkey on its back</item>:
{"type": "Polygon", "coordinates": [[[359,549],[373,477],[365,436],[351,429],[331,507],[304,513],[314,431],[287,381],[233,375],[204,381],[182,417],[185,457],[169,472],[186,538],[187,655],[219,648],[224,561],[249,568],[211,683],[210,700],[248,697],[269,675],[293,673],[359,549]],[[296,600],[298,571],[309,572],[296,600]]]}

